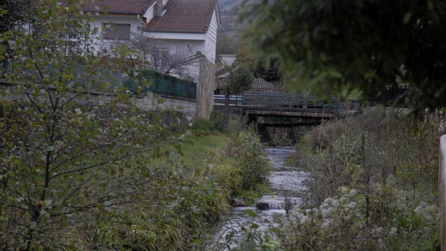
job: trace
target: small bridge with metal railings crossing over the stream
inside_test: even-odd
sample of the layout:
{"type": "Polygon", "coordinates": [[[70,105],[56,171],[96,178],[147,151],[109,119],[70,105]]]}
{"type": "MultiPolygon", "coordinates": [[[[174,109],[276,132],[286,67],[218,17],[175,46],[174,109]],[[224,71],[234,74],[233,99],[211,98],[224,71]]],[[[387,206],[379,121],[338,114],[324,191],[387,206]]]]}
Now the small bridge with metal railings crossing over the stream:
{"type": "MultiPolygon", "coordinates": [[[[224,109],[224,95],[214,96],[214,108],[224,109]]],[[[230,97],[231,113],[247,116],[248,123],[258,117],[291,117],[299,122],[258,122],[259,127],[291,127],[320,124],[322,120],[344,118],[360,109],[359,97],[318,98],[316,95],[244,92],[230,97]]]]}

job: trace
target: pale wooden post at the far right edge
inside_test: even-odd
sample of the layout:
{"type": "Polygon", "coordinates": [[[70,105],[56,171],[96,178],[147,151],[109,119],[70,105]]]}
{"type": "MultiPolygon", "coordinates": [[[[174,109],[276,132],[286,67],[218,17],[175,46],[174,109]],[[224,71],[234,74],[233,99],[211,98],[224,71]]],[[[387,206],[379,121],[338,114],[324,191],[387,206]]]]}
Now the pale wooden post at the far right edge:
{"type": "Polygon", "coordinates": [[[440,250],[446,251],[446,135],[440,137],[438,197],[440,202],[440,250]]]}

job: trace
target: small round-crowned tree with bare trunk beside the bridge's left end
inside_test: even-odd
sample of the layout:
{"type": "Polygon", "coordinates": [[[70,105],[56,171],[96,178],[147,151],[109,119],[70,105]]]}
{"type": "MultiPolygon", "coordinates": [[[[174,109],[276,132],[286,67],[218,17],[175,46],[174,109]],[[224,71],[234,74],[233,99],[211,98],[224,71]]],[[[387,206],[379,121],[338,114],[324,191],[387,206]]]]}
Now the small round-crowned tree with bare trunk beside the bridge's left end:
{"type": "Polygon", "coordinates": [[[228,133],[229,122],[229,97],[231,94],[240,94],[251,86],[254,77],[252,72],[244,64],[233,63],[227,67],[228,78],[223,89],[225,90],[225,117],[223,118],[223,133],[228,133]]]}

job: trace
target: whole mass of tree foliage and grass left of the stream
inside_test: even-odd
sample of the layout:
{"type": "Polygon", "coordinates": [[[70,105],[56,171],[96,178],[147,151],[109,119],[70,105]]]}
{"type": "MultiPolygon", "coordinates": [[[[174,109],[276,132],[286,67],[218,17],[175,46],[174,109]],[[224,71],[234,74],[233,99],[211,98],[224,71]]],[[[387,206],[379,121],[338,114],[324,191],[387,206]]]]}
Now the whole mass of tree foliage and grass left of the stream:
{"type": "Polygon", "coordinates": [[[268,175],[258,136],[189,130],[192,117],[161,107],[160,98],[153,111],[138,109],[132,91],[115,85],[117,74],[136,81],[138,53],[126,45],[92,53],[97,45],[88,38],[97,30],[79,1],[33,7],[30,25],[0,36],[8,65],[0,93],[0,249],[199,246],[231,196],[268,175]]]}

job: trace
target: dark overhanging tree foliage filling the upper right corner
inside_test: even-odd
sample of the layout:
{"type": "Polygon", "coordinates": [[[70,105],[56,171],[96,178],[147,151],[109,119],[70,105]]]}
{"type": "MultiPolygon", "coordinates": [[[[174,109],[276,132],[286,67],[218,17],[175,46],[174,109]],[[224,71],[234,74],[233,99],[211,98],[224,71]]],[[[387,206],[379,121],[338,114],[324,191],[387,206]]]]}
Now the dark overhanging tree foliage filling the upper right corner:
{"type": "Polygon", "coordinates": [[[416,113],[446,105],[443,1],[278,0],[250,11],[257,56],[299,73],[294,84],[325,95],[359,90],[364,99],[408,84],[416,113]]]}

